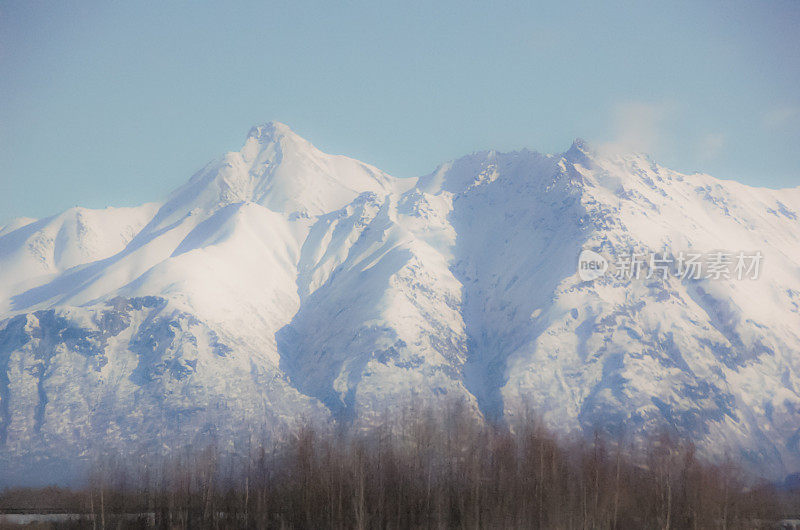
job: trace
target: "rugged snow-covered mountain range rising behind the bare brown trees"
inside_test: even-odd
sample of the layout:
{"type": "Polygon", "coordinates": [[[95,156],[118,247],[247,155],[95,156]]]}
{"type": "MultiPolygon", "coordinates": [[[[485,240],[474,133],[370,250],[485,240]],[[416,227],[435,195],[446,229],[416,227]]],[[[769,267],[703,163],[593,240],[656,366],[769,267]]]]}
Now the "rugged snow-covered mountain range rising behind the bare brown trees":
{"type": "Polygon", "coordinates": [[[800,469],[798,216],[800,188],[581,141],[401,179],[256,127],[163,203],[0,227],[0,469],[235,450],[413,396],[531,407],[562,432],[668,428],[782,476],[800,469]],[[609,272],[579,274],[584,250],[609,272]],[[681,275],[684,253],[720,252],[730,274],[681,275]],[[739,253],[763,257],[757,278],[739,253]],[[631,255],[638,277],[613,267],[631,255]]]}

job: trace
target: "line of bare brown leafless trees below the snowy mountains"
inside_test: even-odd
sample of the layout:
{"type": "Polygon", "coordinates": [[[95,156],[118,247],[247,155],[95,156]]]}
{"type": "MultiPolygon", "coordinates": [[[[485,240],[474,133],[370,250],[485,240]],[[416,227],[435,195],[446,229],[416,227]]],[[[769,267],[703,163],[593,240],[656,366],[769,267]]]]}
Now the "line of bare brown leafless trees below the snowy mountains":
{"type": "MultiPolygon", "coordinates": [[[[798,493],[667,436],[633,448],[560,439],[532,419],[491,426],[460,407],[400,415],[359,432],[302,427],[238,458],[104,459],[85,489],[49,491],[94,528],[768,528],[800,508],[798,493]],[[154,515],[112,523],[118,513],[154,515]]],[[[0,509],[47,491],[6,491],[0,509]]]]}

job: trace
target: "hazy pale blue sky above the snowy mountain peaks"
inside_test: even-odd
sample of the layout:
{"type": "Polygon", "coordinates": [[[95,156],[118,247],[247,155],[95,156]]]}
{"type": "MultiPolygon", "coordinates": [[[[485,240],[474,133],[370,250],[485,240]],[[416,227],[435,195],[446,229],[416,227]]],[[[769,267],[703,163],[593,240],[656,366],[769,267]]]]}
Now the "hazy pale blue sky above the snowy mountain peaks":
{"type": "Polygon", "coordinates": [[[0,0],[0,223],[161,200],[251,125],[397,176],[650,152],[800,185],[800,2],[0,0]]]}

